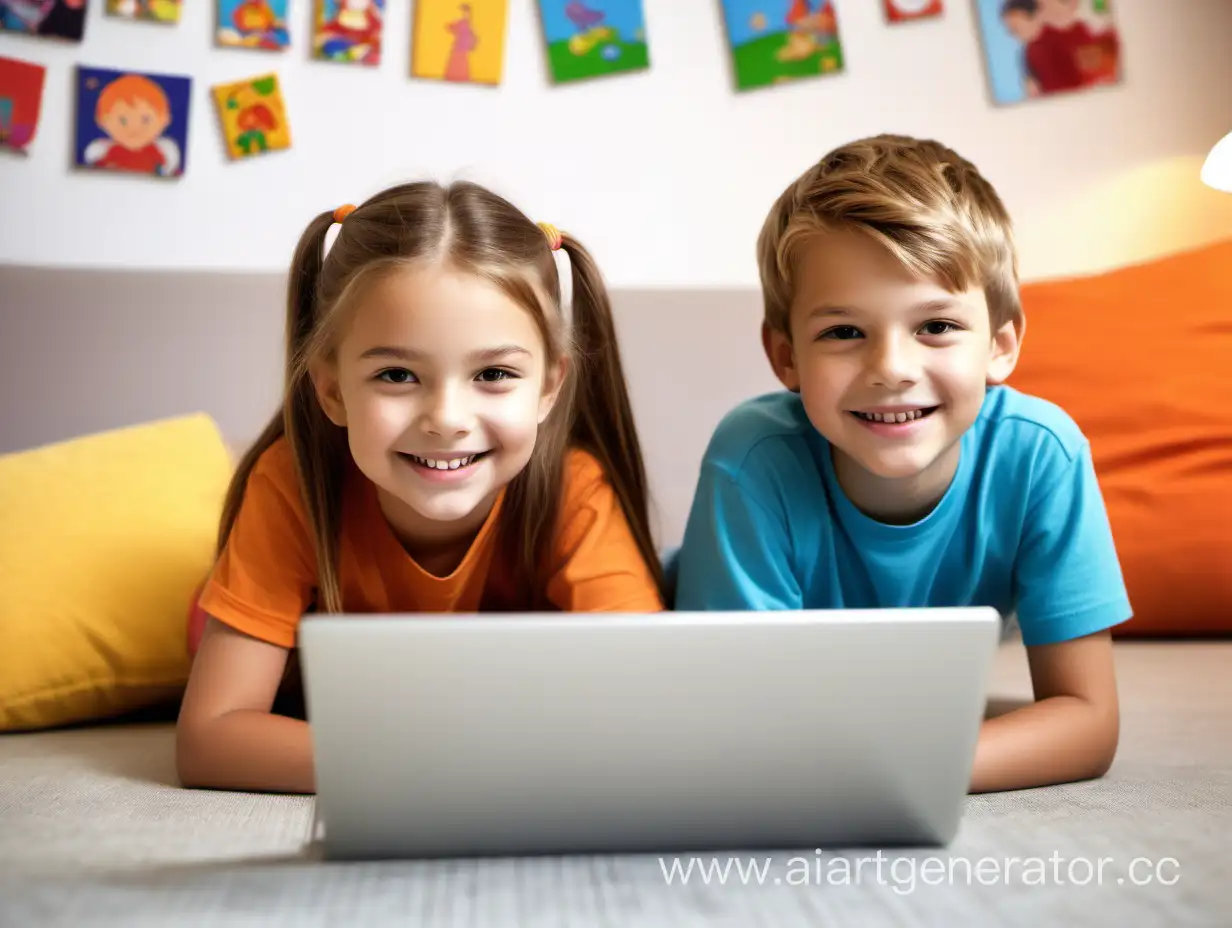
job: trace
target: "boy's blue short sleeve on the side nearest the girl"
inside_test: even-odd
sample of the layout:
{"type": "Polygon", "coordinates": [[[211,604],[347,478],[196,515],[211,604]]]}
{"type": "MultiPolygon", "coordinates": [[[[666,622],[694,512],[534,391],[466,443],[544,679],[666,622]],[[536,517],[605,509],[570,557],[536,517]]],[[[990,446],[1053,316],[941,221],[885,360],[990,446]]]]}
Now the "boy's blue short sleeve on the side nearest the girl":
{"type": "Polygon", "coordinates": [[[801,609],[791,535],[756,473],[740,479],[705,462],[676,561],[681,611],[801,609]]]}

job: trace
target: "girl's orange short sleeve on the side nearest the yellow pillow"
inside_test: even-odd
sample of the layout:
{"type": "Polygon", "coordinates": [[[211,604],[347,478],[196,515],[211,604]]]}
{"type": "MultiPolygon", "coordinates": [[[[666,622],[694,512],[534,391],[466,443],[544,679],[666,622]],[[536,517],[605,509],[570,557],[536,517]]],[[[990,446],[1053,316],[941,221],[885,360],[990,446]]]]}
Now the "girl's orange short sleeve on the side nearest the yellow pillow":
{"type": "Polygon", "coordinates": [[[315,589],[315,555],[290,449],[271,446],[249,474],[201,609],[271,645],[291,648],[315,589]]]}

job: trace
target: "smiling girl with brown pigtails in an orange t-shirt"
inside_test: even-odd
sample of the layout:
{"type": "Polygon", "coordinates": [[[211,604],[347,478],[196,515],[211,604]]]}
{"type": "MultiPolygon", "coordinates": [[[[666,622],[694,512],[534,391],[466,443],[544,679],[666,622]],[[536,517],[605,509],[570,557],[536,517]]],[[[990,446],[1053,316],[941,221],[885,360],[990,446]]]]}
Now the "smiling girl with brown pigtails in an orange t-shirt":
{"type": "Polygon", "coordinates": [[[282,409],[232,482],[200,609],[182,783],[293,792],[314,791],[308,725],[271,710],[304,613],[662,610],[586,250],[472,184],[313,219],[291,269],[282,409]]]}

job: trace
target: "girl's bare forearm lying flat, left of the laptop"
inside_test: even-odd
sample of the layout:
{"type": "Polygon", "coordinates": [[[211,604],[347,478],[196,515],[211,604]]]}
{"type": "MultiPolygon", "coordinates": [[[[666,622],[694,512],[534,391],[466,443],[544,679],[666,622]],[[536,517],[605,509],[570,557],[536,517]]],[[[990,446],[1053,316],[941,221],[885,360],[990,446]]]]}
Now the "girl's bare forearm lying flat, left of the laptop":
{"type": "Polygon", "coordinates": [[[237,710],[182,728],[176,765],[185,786],[315,792],[312,733],[298,718],[237,710]]]}

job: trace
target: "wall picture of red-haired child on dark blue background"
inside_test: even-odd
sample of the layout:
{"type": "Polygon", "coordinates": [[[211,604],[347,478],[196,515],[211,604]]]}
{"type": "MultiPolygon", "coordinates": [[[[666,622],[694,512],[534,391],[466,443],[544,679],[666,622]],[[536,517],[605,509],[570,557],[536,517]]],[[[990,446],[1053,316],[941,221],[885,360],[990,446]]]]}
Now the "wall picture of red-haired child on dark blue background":
{"type": "Polygon", "coordinates": [[[95,170],[184,174],[192,79],[78,68],[76,163],[95,170]]]}

